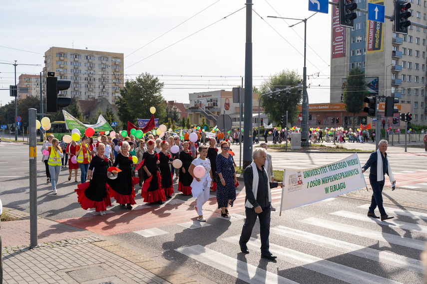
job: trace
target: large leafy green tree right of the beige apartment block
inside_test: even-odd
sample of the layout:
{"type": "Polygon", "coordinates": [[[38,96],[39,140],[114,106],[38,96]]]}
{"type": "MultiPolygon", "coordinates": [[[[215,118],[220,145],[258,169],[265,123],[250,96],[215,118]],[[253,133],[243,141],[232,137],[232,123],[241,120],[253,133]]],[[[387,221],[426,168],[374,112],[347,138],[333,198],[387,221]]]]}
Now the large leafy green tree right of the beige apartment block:
{"type": "Polygon", "coordinates": [[[151,118],[150,108],[155,107],[155,117],[164,121],[166,106],[161,95],[163,83],[149,73],[139,75],[135,80],[126,81],[120,89],[121,97],[116,101],[118,116],[126,125],[127,122],[136,124],[138,118],[151,118]]]}

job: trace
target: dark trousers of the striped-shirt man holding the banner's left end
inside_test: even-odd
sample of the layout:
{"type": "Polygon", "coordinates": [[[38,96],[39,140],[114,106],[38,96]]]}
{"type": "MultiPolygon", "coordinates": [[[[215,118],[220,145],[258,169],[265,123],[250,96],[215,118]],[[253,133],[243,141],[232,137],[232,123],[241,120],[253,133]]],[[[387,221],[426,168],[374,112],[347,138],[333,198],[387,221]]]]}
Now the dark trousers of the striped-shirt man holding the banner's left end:
{"type": "Polygon", "coordinates": [[[268,253],[270,251],[270,243],[268,241],[268,237],[270,236],[270,205],[268,207],[263,207],[260,214],[256,213],[254,208],[245,207],[245,210],[246,221],[242,228],[240,242],[246,244],[249,241],[252,235],[252,229],[258,217],[260,219],[261,254],[268,253]]]}

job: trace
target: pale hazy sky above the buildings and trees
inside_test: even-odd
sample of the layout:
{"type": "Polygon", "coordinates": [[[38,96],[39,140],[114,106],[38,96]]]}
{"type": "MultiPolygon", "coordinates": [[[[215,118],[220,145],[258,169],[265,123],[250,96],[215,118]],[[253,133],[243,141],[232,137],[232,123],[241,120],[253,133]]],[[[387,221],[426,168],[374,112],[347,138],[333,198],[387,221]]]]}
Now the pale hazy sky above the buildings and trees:
{"type": "MultiPolygon", "coordinates": [[[[304,24],[290,28],[298,21],[267,16],[307,18],[313,14],[308,2],[253,0],[254,86],[283,69],[302,75],[304,24]]],[[[43,65],[51,46],[120,52],[126,79],[158,75],[165,99],[186,103],[188,93],[241,84],[246,9],[238,10],[244,6],[245,0],[1,1],[0,62],[43,65]]],[[[310,103],[329,102],[330,19],[317,13],[308,20],[310,103]]],[[[41,68],[17,66],[17,77],[41,68]]],[[[0,64],[0,88],[13,80],[13,66],[0,64]]],[[[8,91],[0,91],[2,105],[10,100],[8,91]]]]}

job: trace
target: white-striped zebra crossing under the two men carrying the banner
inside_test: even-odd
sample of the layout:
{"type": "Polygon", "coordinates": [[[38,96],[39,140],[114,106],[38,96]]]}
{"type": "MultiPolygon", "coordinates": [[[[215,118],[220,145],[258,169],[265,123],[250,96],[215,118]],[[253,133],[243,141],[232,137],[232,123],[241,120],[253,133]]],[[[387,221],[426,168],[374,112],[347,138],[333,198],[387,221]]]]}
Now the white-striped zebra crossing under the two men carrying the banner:
{"type": "MultiPolygon", "coordinates": [[[[270,229],[270,251],[278,256],[277,264],[274,266],[304,269],[309,274],[322,275],[327,279],[326,282],[325,279],[319,279],[319,282],[313,280],[310,283],[422,283],[425,269],[419,254],[414,254],[416,252],[414,250],[421,253],[426,248],[427,226],[421,223],[427,220],[427,213],[385,207],[386,212],[397,217],[380,221],[356,212],[360,212],[360,209],[367,211],[368,207],[369,204],[364,204],[355,207],[353,210],[355,212],[348,208],[330,212],[328,215],[333,220],[318,217],[297,220],[297,224],[308,225],[303,226],[303,228],[307,228],[305,230],[283,225],[272,227],[270,229]],[[399,219],[405,220],[405,222],[399,219]],[[414,223],[410,221],[414,221],[414,223]],[[387,228],[394,230],[395,234],[387,232],[387,228]],[[325,230],[328,232],[327,234],[325,230]],[[399,230],[405,233],[401,236],[399,230]],[[323,233],[315,233],[319,231],[323,233]],[[418,234],[418,237],[414,237],[412,233],[418,234]],[[355,239],[368,240],[363,243],[374,242],[378,245],[363,246],[361,242],[354,241],[355,239]],[[286,245],[292,243],[305,243],[307,247],[296,249],[292,245],[286,245]],[[320,257],[318,253],[312,253],[310,249],[307,249],[309,247],[316,248],[313,251],[323,249],[327,252],[333,251],[337,257],[328,257],[328,253],[325,253],[325,257],[320,257]],[[400,253],[402,250],[412,250],[413,253],[400,253]],[[361,267],[364,268],[361,264],[340,263],[337,260],[339,257],[350,258],[350,256],[360,260],[361,264],[369,263],[370,268],[361,269],[361,267]],[[377,270],[374,269],[376,266],[387,267],[393,273],[385,273],[384,270],[377,273],[377,270]],[[404,279],[399,275],[406,275],[409,278],[404,279]]],[[[218,242],[227,242],[238,249],[239,239],[240,235],[233,235],[219,238],[218,242]]],[[[248,256],[259,254],[261,246],[259,237],[251,238],[247,246],[250,252],[253,252],[248,256]]],[[[200,245],[179,247],[175,251],[247,283],[301,283],[301,278],[298,279],[292,273],[287,274],[287,270],[280,271],[277,268],[276,271],[272,271],[267,268],[267,265],[262,265],[265,260],[261,259],[259,263],[253,262],[250,258],[242,258],[242,254],[239,252],[233,254],[233,252],[220,248],[216,249],[215,246],[208,248],[200,245]]],[[[307,277],[309,278],[310,275],[307,277]]]]}

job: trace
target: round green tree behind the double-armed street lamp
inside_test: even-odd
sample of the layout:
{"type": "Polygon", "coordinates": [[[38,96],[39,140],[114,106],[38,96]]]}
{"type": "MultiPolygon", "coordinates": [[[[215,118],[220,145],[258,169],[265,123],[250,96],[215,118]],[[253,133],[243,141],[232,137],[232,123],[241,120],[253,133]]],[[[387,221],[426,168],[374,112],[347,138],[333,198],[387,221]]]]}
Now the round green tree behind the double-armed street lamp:
{"type": "MultiPolygon", "coordinates": [[[[265,94],[276,89],[284,89],[286,86],[297,86],[300,81],[301,76],[297,71],[283,70],[264,81],[261,85],[260,93],[265,94]]],[[[293,123],[297,119],[299,113],[298,104],[301,103],[301,100],[302,92],[291,90],[289,94],[280,94],[278,98],[275,98],[275,96],[272,96],[272,98],[263,96],[261,106],[264,108],[264,112],[270,122],[280,124],[281,116],[288,111],[289,123],[293,123]]]]}

